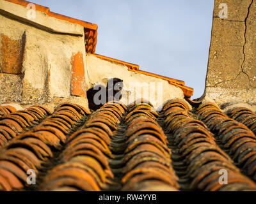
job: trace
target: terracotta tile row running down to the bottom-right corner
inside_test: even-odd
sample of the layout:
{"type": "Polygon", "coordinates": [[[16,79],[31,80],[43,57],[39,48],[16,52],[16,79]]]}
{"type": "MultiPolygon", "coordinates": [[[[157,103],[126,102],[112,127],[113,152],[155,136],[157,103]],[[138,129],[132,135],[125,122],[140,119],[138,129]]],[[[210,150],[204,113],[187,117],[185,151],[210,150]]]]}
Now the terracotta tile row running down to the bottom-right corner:
{"type": "MultiPolygon", "coordinates": [[[[217,107],[209,104],[209,106],[200,106],[198,112],[201,109],[207,111],[209,107],[218,110],[217,107]]],[[[236,189],[237,185],[237,189],[241,190],[241,184],[244,184],[242,189],[255,190],[255,183],[234,166],[232,159],[214,142],[214,135],[205,124],[188,114],[189,108],[186,104],[181,101],[169,101],[164,105],[163,110],[168,112],[166,115],[170,117],[164,123],[167,133],[171,134],[170,142],[175,147],[173,165],[178,175],[187,182],[182,186],[184,189],[220,191],[223,185],[218,182],[219,170],[225,169],[228,171],[228,184],[225,186],[232,185],[232,188],[236,189]],[[179,110],[173,108],[174,104],[179,110]],[[177,119],[179,117],[180,121],[177,119]],[[186,168],[179,169],[179,163],[186,165],[186,168]]]]}

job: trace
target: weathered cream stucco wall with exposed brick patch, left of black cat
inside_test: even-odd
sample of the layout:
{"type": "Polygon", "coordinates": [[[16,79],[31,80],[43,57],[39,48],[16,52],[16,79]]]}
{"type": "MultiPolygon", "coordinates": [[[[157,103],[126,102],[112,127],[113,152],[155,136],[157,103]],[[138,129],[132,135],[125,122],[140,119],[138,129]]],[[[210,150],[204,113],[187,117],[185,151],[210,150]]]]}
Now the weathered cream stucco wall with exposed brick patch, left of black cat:
{"type": "Polygon", "coordinates": [[[88,106],[86,96],[79,98],[71,92],[73,56],[80,52],[86,65],[83,26],[47,17],[40,11],[36,11],[35,19],[26,20],[27,11],[18,4],[0,4],[0,22],[4,22],[0,24],[0,103],[58,104],[63,98],[75,103],[77,99],[77,103],[88,106]],[[13,44],[22,53],[13,50],[11,57],[5,57],[3,37],[9,47],[13,44]],[[3,66],[3,62],[8,66],[3,66]],[[21,64],[22,69],[15,68],[16,64],[21,64]],[[4,71],[6,67],[10,71],[4,71]]]}

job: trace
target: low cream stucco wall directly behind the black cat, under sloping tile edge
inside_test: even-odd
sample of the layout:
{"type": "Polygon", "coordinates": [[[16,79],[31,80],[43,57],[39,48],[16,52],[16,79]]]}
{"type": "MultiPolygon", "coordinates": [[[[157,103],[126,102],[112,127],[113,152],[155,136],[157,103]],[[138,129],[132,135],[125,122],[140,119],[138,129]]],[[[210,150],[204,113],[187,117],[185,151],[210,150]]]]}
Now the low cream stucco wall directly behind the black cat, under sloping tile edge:
{"type": "Polygon", "coordinates": [[[122,79],[124,87],[122,89],[121,101],[125,104],[132,103],[133,99],[145,98],[156,108],[161,108],[161,105],[168,99],[184,98],[182,90],[179,87],[170,85],[166,80],[128,71],[126,66],[104,61],[94,55],[86,55],[86,68],[88,72],[88,89],[96,84],[106,85],[109,78],[116,77],[122,79]],[[150,87],[150,82],[154,88],[150,87]],[[134,89],[132,85],[135,85],[137,89],[134,89]],[[161,86],[163,89],[161,89],[161,86]],[[157,90],[158,88],[159,91],[157,90]],[[143,95],[144,93],[145,95],[143,95]]]}

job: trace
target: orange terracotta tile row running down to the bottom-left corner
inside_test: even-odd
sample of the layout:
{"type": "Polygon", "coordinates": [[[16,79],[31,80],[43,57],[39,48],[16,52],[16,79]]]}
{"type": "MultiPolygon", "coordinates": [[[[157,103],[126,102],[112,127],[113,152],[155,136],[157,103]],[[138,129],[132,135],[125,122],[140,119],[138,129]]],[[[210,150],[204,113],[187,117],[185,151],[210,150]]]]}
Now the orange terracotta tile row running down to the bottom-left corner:
{"type": "MultiPolygon", "coordinates": [[[[68,108],[69,105],[61,106],[67,106],[68,108]]],[[[40,118],[44,119],[42,122],[40,122],[40,124],[36,125],[34,128],[30,127],[32,129],[27,131],[26,133],[21,133],[20,135],[15,136],[15,138],[13,138],[10,142],[6,143],[1,150],[0,169],[9,171],[13,174],[12,177],[16,177],[18,180],[21,181],[21,183],[15,182],[13,183],[13,185],[9,182],[10,187],[6,188],[2,185],[2,183],[6,182],[6,180],[10,181],[10,177],[8,177],[8,174],[6,174],[6,176],[4,177],[6,180],[0,181],[0,186],[3,188],[3,190],[19,190],[28,186],[28,184],[26,184],[26,172],[29,169],[35,170],[36,173],[42,170],[42,164],[44,164],[46,161],[49,161],[49,159],[53,157],[52,148],[60,148],[60,144],[67,140],[65,133],[63,133],[63,129],[59,128],[61,120],[58,120],[60,122],[58,124],[59,126],[51,126],[51,123],[49,123],[49,121],[54,123],[54,119],[60,119],[60,115],[65,115],[65,117],[67,117],[66,119],[69,119],[68,121],[70,122],[70,128],[67,130],[67,133],[70,133],[72,131],[72,125],[79,125],[80,121],[72,120],[74,119],[74,117],[70,117],[70,114],[68,112],[65,112],[61,107],[56,108],[51,116],[48,115],[50,113],[49,110],[40,106],[33,106],[32,109],[34,111],[36,111],[35,107],[38,108],[38,112],[39,110],[41,110],[42,113],[45,113],[46,115],[44,116],[46,118],[40,118]],[[22,157],[20,157],[20,155],[22,157]]],[[[77,108],[79,109],[78,106],[77,108]]],[[[10,115],[15,115],[16,113],[17,112],[11,113],[10,115]]],[[[24,119],[26,119],[27,122],[31,122],[33,120],[38,122],[36,120],[36,117],[31,116],[33,115],[33,113],[29,112],[29,108],[27,108],[26,111],[19,111],[19,113],[20,115],[24,115],[24,119]],[[31,117],[28,117],[28,115],[30,115],[31,117]]],[[[40,114],[38,113],[38,115],[40,114]]],[[[80,116],[82,115],[84,117],[83,111],[81,111],[80,116]]]]}

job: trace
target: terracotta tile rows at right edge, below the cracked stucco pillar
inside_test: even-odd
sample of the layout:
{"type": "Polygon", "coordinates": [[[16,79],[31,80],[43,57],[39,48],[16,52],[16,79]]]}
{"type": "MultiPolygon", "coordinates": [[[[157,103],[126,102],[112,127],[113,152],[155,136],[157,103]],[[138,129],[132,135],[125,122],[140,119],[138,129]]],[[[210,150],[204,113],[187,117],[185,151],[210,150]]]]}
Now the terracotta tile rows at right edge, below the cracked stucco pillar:
{"type": "MultiPolygon", "coordinates": [[[[230,119],[220,108],[209,103],[199,106],[197,111],[237,166],[243,173],[256,180],[256,168],[253,163],[256,159],[256,136],[244,124],[234,120],[243,121],[246,117],[252,119],[255,114],[246,108],[236,108],[228,111],[228,115],[234,118],[230,119]]],[[[245,121],[244,123],[250,127],[250,122],[245,121]]]]}

